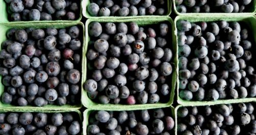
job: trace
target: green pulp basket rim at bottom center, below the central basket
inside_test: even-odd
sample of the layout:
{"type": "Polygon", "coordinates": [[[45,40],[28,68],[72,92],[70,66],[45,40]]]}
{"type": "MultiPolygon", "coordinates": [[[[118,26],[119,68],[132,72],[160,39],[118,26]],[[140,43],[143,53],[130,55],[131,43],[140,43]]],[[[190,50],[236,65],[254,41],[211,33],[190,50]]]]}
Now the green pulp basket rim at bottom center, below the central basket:
{"type": "MultiPolygon", "coordinates": [[[[176,117],[176,115],[175,115],[175,109],[174,109],[174,107],[173,106],[166,106],[165,108],[167,108],[167,107],[169,107],[170,109],[171,109],[171,112],[165,112],[165,114],[166,113],[171,113],[171,117],[172,117],[172,119],[174,120],[174,122],[175,122],[175,117],[176,117]]],[[[153,109],[158,109],[158,108],[160,108],[160,107],[156,107],[156,108],[153,108],[153,109]]],[[[163,108],[163,107],[162,107],[163,108]]],[[[150,108],[150,109],[152,109],[152,108],[150,108]]],[[[149,110],[149,109],[135,109],[135,110],[129,110],[129,111],[136,111],[136,110],[149,110]]],[[[83,133],[84,133],[84,135],[87,135],[87,133],[86,133],[86,130],[87,130],[87,126],[89,125],[89,117],[90,117],[90,114],[92,113],[92,112],[94,112],[94,111],[98,111],[98,110],[93,110],[93,109],[87,109],[87,110],[85,110],[84,111],[84,114],[83,114],[83,117],[84,117],[84,121],[83,121],[83,133]]],[[[104,109],[104,111],[113,111],[113,109],[104,109]]],[[[125,110],[125,109],[119,109],[119,110],[115,110],[115,111],[128,111],[128,110],[125,110]]],[[[175,124],[176,124],[176,122],[175,122],[175,124]]],[[[174,127],[173,127],[173,129],[172,129],[172,131],[173,131],[173,133],[172,134],[174,134],[174,128],[175,128],[175,126],[176,125],[174,125],[174,127]]],[[[89,134],[88,134],[89,135],[89,134]]]]}

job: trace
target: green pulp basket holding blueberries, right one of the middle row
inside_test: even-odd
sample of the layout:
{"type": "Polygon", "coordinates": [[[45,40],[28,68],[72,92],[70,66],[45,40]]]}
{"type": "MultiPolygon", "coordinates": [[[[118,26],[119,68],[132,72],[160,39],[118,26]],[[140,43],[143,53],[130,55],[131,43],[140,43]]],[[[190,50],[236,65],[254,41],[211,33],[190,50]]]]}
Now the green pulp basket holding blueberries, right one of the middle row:
{"type": "MultiPolygon", "coordinates": [[[[206,22],[212,22],[212,21],[220,21],[220,20],[225,20],[225,21],[238,21],[238,22],[244,22],[245,24],[247,24],[248,28],[250,28],[251,30],[251,34],[253,34],[253,38],[254,38],[254,44],[256,43],[256,16],[254,15],[230,15],[230,14],[212,14],[211,16],[209,16],[208,14],[204,14],[196,17],[190,16],[190,15],[184,15],[184,16],[177,16],[174,20],[175,23],[175,36],[176,36],[176,42],[177,42],[177,27],[176,27],[176,22],[178,20],[188,20],[190,22],[201,22],[201,21],[206,21],[206,22]]],[[[176,47],[178,48],[178,45],[176,44],[176,47]]],[[[255,46],[254,46],[255,47],[255,46]]],[[[177,53],[176,53],[176,57],[178,57],[177,53]]],[[[177,64],[178,65],[178,64],[177,64]]],[[[178,70],[178,67],[177,67],[178,70]]],[[[177,71],[178,72],[178,71],[177,71]]],[[[187,101],[187,100],[183,100],[182,98],[180,98],[179,96],[179,79],[178,79],[178,74],[177,74],[177,102],[179,104],[182,105],[214,105],[214,104],[223,104],[223,103],[236,103],[236,102],[249,102],[249,101],[256,101],[256,97],[255,98],[240,98],[240,99],[220,99],[220,100],[216,100],[216,101],[187,101]]]]}

